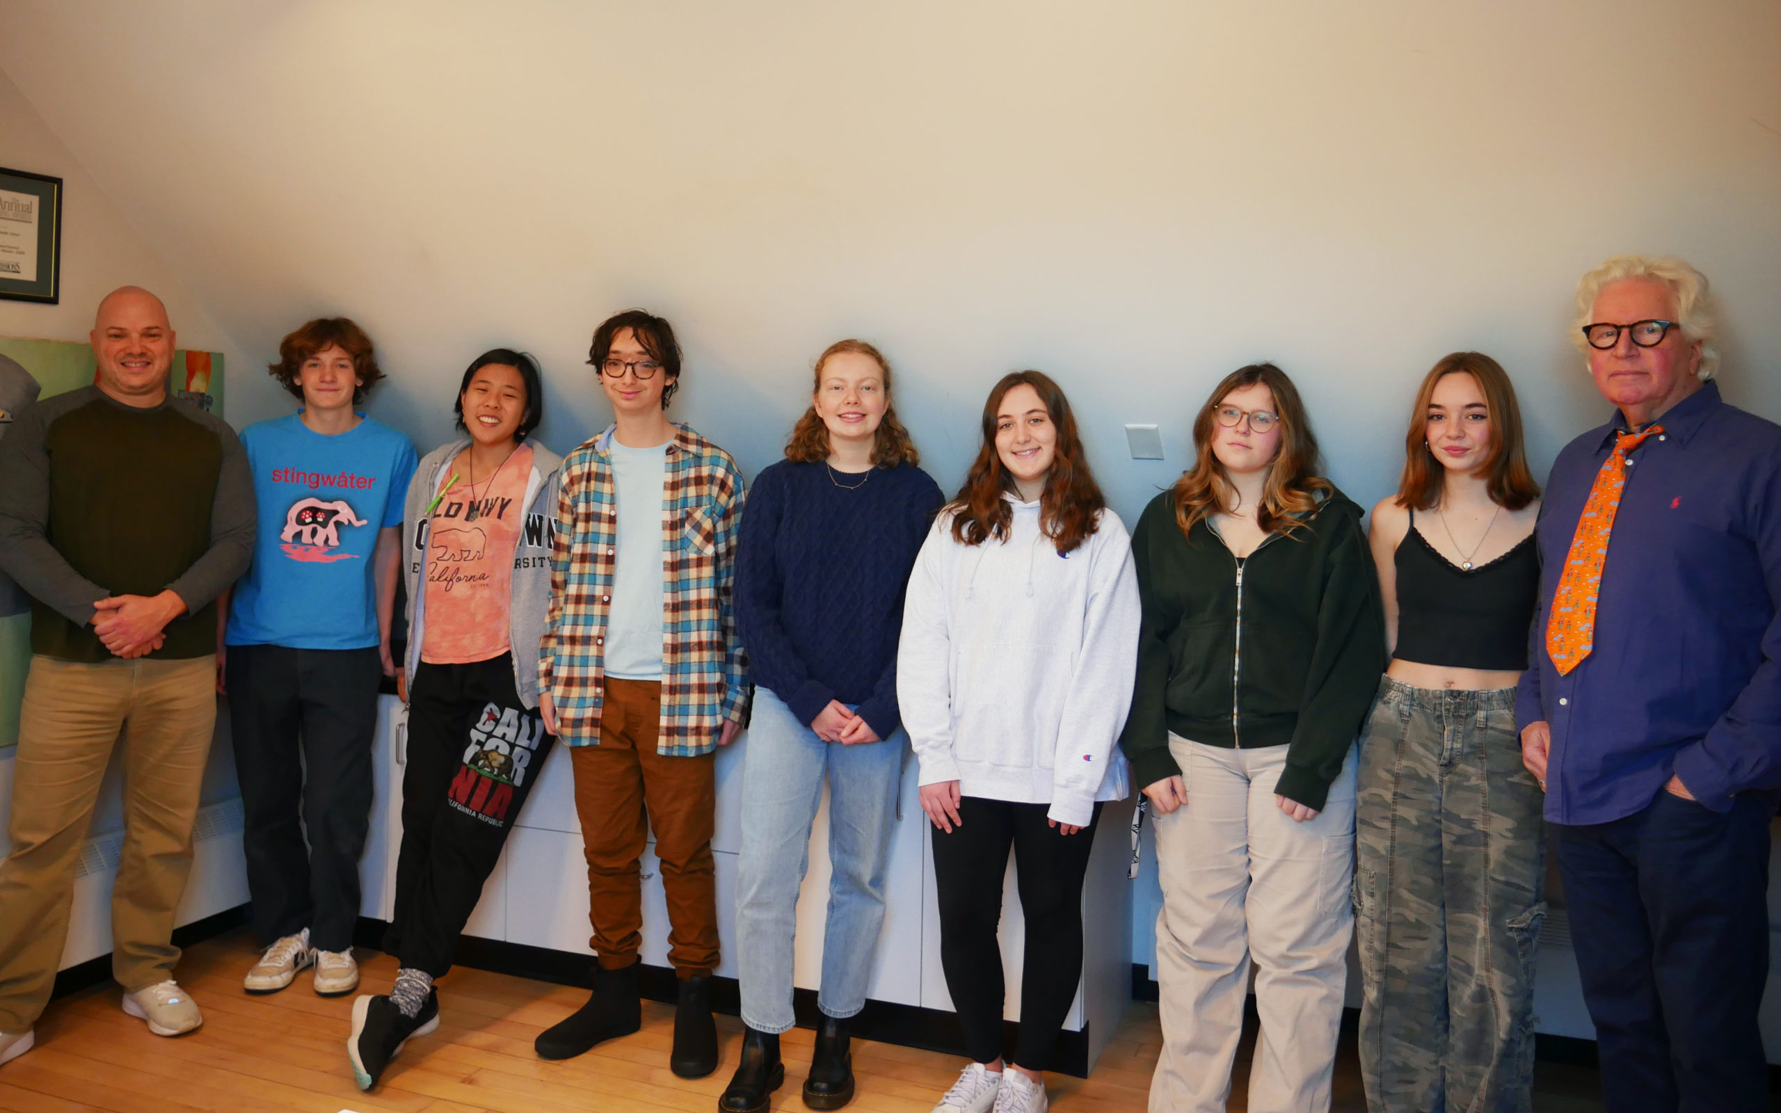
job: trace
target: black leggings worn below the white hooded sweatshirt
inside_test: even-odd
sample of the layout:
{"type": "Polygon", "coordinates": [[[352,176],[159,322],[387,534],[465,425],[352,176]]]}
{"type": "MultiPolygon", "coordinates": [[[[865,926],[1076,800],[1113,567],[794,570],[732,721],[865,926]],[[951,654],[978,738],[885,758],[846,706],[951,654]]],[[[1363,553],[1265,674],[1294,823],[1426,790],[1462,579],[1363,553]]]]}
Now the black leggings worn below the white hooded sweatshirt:
{"type": "Polygon", "coordinates": [[[1063,835],[1045,823],[1045,803],[965,796],[960,825],[933,830],[933,878],[940,903],[940,967],[965,1028],[965,1054],[992,1063],[1003,1054],[1001,922],[1008,849],[1026,919],[1021,969],[1021,1036],[1012,1061],[1044,1070],[1083,978],[1083,876],[1101,805],[1088,826],[1063,835]]]}

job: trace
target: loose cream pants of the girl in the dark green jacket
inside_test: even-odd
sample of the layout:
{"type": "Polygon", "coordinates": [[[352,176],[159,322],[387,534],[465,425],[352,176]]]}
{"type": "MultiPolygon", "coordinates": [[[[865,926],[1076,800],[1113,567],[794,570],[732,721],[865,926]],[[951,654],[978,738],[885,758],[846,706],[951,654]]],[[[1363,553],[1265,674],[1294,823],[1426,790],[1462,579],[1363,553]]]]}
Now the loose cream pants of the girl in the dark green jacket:
{"type": "Polygon", "coordinates": [[[1250,956],[1261,1040],[1248,1109],[1329,1109],[1354,933],[1355,755],[1323,810],[1295,823],[1273,801],[1286,746],[1231,750],[1170,734],[1168,751],[1188,803],[1156,817],[1163,1054],[1151,1113],[1225,1108],[1250,956]]]}

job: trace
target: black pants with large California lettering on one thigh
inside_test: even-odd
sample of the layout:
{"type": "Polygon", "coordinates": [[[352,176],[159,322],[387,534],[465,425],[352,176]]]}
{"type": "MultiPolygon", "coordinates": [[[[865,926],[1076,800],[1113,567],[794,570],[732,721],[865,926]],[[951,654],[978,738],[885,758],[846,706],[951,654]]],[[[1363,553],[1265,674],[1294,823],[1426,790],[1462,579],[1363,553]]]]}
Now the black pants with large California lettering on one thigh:
{"type": "Polygon", "coordinates": [[[554,741],[520,702],[508,654],[415,670],[395,915],[383,937],[401,965],[435,978],[451,969],[554,741]]]}

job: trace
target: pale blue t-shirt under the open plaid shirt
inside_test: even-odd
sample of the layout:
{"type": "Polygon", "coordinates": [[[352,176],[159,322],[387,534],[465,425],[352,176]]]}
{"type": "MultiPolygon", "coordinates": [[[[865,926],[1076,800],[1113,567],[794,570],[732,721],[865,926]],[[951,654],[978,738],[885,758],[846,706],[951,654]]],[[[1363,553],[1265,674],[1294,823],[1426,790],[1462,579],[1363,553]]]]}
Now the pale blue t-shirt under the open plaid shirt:
{"type": "Polygon", "coordinates": [[[606,621],[606,675],[663,678],[663,486],[668,443],[627,449],[614,438],[613,488],[618,497],[618,565],[606,621]]]}

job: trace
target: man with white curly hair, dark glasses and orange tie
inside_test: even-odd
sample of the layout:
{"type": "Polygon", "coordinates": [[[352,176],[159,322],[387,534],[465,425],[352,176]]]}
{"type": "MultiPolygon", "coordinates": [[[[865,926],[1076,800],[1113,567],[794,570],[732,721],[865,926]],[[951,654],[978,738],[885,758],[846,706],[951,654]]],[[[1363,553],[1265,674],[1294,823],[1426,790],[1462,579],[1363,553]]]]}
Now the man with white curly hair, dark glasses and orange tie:
{"type": "Polygon", "coordinates": [[[1706,278],[1619,255],[1573,340],[1614,420],[1558,454],[1516,719],[1608,1109],[1769,1108],[1781,426],[1719,397],[1706,278]]]}

